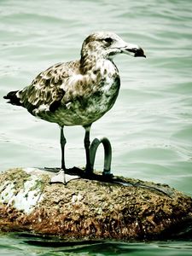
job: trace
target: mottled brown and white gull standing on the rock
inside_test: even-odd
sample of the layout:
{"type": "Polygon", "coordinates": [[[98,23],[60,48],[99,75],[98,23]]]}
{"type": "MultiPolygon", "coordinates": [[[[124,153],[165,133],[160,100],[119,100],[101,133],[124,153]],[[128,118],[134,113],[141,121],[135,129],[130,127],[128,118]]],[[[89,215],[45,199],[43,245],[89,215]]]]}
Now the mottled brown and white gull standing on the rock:
{"type": "Polygon", "coordinates": [[[56,63],[22,90],[10,91],[4,99],[26,108],[33,116],[56,123],[61,130],[61,171],[65,164],[64,126],[84,127],[85,173],[91,173],[90,127],[113,107],[119,94],[115,55],[146,57],[137,44],[126,43],[114,32],[93,32],[84,39],[80,59],[56,63]]]}

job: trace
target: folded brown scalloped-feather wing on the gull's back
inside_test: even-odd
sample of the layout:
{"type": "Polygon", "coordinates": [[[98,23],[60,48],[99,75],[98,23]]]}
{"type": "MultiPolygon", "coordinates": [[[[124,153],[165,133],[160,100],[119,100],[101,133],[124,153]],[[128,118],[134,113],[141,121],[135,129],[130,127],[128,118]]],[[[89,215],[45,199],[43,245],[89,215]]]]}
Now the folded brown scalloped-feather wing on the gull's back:
{"type": "Polygon", "coordinates": [[[19,91],[22,106],[32,114],[55,112],[67,92],[67,79],[76,74],[78,66],[78,61],[58,63],[39,73],[32,84],[19,91]]]}

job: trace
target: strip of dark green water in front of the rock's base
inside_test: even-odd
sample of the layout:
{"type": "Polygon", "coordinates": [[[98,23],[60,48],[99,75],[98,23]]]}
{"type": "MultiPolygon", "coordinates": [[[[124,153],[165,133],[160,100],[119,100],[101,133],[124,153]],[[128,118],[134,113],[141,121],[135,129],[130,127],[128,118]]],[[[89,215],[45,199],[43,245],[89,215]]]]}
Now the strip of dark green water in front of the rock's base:
{"type": "Polygon", "coordinates": [[[12,233],[0,237],[1,255],[191,255],[190,241],[63,241],[12,233]]]}

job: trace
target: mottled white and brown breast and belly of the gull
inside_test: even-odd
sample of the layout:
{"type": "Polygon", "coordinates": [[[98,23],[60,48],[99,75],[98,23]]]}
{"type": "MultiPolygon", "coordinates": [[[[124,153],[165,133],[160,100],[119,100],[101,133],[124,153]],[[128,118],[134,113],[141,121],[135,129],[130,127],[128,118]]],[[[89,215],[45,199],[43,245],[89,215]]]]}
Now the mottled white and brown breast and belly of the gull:
{"type": "Polygon", "coordinates": [[[119,73],[112,61],[96,61],[86,73],[76,73],[61,84],[65,91],[54,113],[38,116],[59,125],[90,125],[110,108],[118,96],[119,73]]]}

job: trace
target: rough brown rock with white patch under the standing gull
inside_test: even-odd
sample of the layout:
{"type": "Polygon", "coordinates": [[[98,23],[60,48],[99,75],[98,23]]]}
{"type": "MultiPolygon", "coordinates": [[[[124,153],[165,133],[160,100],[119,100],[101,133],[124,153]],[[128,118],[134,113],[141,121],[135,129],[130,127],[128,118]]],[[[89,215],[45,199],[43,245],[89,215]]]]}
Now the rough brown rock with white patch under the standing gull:
{"type": "Polygon", "coordinates": [[[156,239],[192,219],[192,200],[167,185],[123,178],[50,184],[53,174],[15,168],[0,174],[0,230],[67,239],[156,239]]]}

